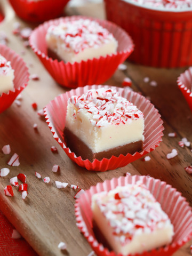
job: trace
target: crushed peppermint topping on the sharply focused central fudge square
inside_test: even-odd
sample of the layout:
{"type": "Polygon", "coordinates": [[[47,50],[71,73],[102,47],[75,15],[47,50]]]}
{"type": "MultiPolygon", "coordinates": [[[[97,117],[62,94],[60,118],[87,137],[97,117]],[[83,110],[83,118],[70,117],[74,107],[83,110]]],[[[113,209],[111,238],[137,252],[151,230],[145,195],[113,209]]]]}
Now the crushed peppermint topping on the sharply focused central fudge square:
{"type": "Polygon", "coordinates": [[[91,124],[97,127],[131,123],[143,117],[143,113],[116,89],[92,89],[81,96],[73,95],[68,104],[74,105],[73,118],[85,111],[91,124]]]}

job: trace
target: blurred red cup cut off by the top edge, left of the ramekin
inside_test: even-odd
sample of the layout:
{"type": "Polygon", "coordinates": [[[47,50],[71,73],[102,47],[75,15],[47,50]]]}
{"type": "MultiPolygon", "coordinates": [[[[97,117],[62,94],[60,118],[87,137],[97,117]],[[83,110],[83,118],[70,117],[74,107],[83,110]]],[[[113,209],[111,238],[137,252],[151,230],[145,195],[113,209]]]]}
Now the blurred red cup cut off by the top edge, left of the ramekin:
{"type": "Polygon", "coordinates": [[[28,2],[27,0],[9,0],[15,13],[26,21],[43,22],[57,18],[69,0],[43,0],[28,2]],[[23,11],[24,10],[24,11],[23,11]]]}

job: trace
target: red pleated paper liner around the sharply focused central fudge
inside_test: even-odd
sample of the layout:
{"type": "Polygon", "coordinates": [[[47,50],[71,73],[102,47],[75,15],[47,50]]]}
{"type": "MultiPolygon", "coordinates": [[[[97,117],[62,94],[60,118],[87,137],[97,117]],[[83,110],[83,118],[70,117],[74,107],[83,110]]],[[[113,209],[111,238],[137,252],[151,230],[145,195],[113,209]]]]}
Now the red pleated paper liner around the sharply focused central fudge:
{"type": "MultiPolygon", "coordinates": [[[[90,171],[106,171],[106,170],[114,170],[118,167],[125,166],[140,157],[146,155],[147,153],[153,151],[157,146],[159,146],[159,142],[162,141],[163,136],[163,121],[161,116],[158,113],[158,110],[154,107],[153,104],[150,103],[149,100],[145,99],[145,97],[141,96],[138,93],[132,92],[128,89],[122,89],[113,86],[114,89],[126,99],[129,99],[134,105],[136,105],[144,114],[145,119],[145,141],[143,143],[143,151],[141,153],[134,153],[133,155],[127,154],[119,155],[119,157],[112,156],[110,159],[103,158],[101,161],[98,159],[94,159],[93,162],[90,162],[88,159],[83,160],[81,156],[76,156],[73,152],[70,151],[69,148],[66,147],[65,138],[63,137],[63,131],[65,128],[65,118],[67,111],[67,101],[72,95],[82,95],[86,93],[87,90],[90,89],[98,89],[103,87],[102,85],[93,85],[93,86],[85,86],[78,87],[77,89],[71,90],[64,94],[59,95],[54,100],[52,100],[44,109],[46,122],[49,125],[53,137],[58,141],[60,146],[63,148],[65,153],[69,156],[69,158],[74,161],[79,166],[85,167],[90,171]]],[[[112,86],[104,86],[104,87],[112,87],[112,86]]]]}

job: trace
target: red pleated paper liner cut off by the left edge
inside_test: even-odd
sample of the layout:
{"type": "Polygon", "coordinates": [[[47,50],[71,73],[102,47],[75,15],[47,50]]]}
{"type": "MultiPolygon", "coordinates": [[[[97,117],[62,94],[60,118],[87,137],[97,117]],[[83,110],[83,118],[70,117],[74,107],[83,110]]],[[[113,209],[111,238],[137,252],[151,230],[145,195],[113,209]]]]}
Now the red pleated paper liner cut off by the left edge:
{"type": "Polygon", "coordinates": [[[29,73],[23,59],[7,46],[0,44],[0,54],[11,61],[11,67],[14,69],[14,89],[0,95],[0,113],[2,113],[11,106],[18,94],[27,86],[29,73]]]}

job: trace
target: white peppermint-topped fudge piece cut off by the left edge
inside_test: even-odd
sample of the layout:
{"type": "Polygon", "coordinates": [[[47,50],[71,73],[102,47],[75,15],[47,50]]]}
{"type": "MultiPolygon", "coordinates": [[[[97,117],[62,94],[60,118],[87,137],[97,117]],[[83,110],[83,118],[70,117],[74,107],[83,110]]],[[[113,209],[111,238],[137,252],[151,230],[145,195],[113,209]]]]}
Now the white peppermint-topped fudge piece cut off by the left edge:
{"type": "Polygon", "coordinates": [[[7,61],[0,55],[0,95],[13,90],[14,70],[11,67],[11,62],[7,61]]]}

